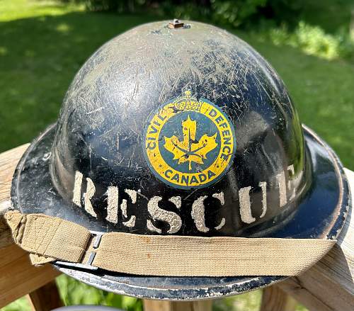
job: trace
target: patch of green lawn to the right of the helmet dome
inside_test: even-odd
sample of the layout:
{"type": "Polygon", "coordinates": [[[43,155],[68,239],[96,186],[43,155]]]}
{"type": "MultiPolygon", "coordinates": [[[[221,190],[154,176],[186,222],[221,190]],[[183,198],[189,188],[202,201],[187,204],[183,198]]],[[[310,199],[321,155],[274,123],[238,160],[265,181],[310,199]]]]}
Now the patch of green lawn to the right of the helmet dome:
{"type": "Polygon", "coordinates": [[[354,169],[354,64],[273,46],[256,35],[240,36],[275,67],[295,102],[300,120],[315,130],[354,169]]]}

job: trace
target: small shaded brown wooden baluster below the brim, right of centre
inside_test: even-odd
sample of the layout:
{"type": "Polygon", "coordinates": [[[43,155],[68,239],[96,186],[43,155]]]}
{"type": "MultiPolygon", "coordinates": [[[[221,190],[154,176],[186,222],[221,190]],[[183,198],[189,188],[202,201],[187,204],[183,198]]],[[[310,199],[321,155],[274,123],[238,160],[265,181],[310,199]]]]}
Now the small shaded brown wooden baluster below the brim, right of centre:
{"type": "Polygon", "coordinates": [[[294,311],[297,302],[277,285],[264,288],[260,311],[294,311]]]}

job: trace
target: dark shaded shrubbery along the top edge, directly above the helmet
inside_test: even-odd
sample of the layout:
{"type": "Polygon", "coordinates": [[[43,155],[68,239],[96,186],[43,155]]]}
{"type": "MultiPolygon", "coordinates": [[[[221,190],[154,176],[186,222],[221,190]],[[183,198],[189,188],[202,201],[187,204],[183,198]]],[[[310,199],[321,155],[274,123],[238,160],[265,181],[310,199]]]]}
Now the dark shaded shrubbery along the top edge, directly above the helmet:
{"type": "Polygon", "coordinates": [[[136,13],[154,11],[169,18],[208,19],[224,26],[239,27],[263,18],[290,21],[304,0],[61,0],[83,2],[89,11],[136,13]]]}

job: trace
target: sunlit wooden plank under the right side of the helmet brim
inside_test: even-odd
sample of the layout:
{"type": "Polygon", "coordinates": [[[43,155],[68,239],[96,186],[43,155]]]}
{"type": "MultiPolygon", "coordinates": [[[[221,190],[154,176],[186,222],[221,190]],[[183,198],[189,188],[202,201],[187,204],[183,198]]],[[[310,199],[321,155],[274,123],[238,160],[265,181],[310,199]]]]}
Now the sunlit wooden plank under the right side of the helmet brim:
{"type": "MultiPolygon", "coordinates": [[[[354,173],[346,169],[354,201],[354,173]]],[[[278,286],[309,310],[354,310],[354,217],[348,215],[338,243],[319,263],[278,286]]]]}

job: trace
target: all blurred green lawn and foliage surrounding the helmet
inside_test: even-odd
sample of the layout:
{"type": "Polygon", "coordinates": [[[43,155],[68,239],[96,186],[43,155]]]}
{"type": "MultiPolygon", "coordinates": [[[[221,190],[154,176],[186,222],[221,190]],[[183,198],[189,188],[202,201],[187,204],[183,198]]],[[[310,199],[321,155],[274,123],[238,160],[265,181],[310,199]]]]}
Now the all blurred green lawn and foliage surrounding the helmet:
{"type": "MultiPolygon", "coordinates": [[[[228,28],[255,47],[284,79],[302,122],[353,170],[353,5],[349,0],[0,0],[0,151],[29,142],[55,122],[75,72],[105,41],[140,23],[179,17],[228,28]]],[[[140,300],[67,276],[57,283],[67,305],[142,310],[140,300]]],[[[257,310],[260,300],[258,290],[217,300],[214,309],[257,310]]],[[[30,309],[21,299],[4,310],[30,309]]]]}

